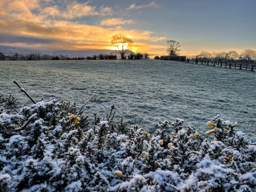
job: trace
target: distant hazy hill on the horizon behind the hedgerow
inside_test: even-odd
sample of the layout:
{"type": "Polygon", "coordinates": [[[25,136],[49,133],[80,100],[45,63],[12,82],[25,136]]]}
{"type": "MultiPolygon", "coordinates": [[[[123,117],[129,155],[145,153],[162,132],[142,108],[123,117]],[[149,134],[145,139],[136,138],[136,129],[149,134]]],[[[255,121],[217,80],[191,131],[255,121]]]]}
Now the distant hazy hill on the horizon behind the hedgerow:
{"type": "MultiPolygon", "coordinates": [[[[15,52],[19,54],[30,54],[31,51],[38,52],[40,55],[48,54],[48,55],[64,55],[67,57],[87,57],[92,55],[99,54],[111,54],[113,50],[106,49],[88,49],[88,50],[39,50],[39,49],[28,49],[28,48],[20,48],[20,47],[9,47],[9,46],[0,46],[0,52],[5,55],[14,54],[15,52]]],[[[129,50],[129,52],[132,52],[129,50]]],[[[132,52],[135,54],[134,52],[132,52]]]]}

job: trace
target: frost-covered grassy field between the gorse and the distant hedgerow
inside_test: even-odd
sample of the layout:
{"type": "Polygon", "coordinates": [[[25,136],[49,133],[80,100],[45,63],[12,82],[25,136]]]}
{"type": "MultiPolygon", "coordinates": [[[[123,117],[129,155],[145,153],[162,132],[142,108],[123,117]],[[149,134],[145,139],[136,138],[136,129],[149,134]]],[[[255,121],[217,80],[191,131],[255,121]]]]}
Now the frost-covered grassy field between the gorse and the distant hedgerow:
{"type": "Polygon", "coordinates": [[[90,116],[115,103],[129,125],[149,131],[160,119],[179,117],[205,132],[205,122],[220,114],[255,137],[255,72],[159,60],[0,61],[0,79],[0,94],[12,94],[24,104],[31,101],[13,79],[36,101],[44,96],[82,105],[96,93],[86,107],[90,116]]]}

